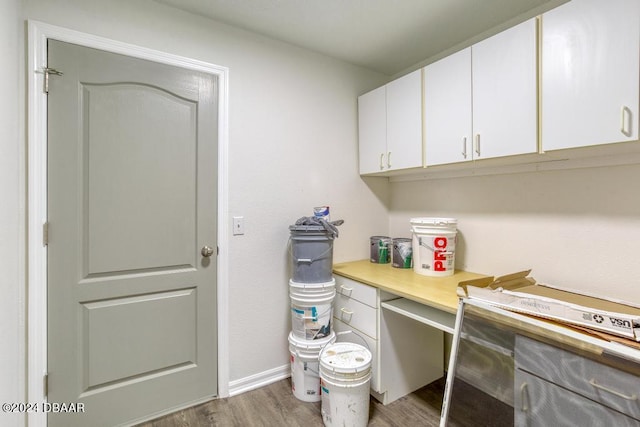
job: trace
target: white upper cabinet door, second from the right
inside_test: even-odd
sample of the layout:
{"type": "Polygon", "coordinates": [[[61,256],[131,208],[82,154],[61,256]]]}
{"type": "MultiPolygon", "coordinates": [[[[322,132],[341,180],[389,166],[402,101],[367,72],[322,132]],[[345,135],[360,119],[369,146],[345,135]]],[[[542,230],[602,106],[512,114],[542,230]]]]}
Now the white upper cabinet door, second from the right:
{"type": "Polygon", "coordinates": [[[530,19],[473,45],[474,159],[538,150],[536,29],[530,19]]]}

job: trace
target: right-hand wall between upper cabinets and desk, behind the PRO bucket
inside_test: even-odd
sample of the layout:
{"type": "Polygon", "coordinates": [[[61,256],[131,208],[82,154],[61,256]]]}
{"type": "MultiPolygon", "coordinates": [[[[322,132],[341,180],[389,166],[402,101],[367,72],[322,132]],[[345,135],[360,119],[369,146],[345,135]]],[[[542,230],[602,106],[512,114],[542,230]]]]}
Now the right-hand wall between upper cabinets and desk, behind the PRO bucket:
{"type": "MultiPolygon", "coordinates": [[[[640,304],[640,165],[394,182],[390,230],[458,218],[456,267],[640,304]]],[[[399,237],[399,236],[398,236],[399,237]]]]}

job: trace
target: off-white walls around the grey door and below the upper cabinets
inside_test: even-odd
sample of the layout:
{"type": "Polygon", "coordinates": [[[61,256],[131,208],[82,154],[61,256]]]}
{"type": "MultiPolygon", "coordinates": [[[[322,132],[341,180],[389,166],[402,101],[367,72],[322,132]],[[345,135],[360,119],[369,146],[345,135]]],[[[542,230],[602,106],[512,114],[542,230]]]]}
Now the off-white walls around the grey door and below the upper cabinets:
{"type": "MultiPolygon", "coordinates": [[[[640,166],[387,184],[357,174],[356,97],[385,77],[151,0],[0,3],[0,401],[24,400],[24,19],[227,66],[230,379],[288,363],[287,226],[316,205],[342,218],[337,262],[368,237],[409,236],[409,219],[459,219],[457,266],[533,268],[541,282],[640,303],[640,166]],[[24,9],[24,12],[21,12],[24,9]],[[391,190],[391,191],[389,191],[391,190]],[[388,211],[390,209],[390,211],[388,211]]],[[[223,248],[224,249],[224,248],[223,248]]],[[[20,417],[0,415],[0,424],[20,417]]]]}

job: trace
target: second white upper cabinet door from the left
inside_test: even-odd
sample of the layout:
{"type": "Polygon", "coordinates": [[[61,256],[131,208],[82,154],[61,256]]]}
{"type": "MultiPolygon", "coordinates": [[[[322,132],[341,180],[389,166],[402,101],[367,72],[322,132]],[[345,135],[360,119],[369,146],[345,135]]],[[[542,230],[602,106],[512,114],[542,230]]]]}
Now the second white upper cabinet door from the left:
{"type": "Polygon", "coordinates": [[[389,170],[422,167],[422,70],[387,84],[389,170]]]}

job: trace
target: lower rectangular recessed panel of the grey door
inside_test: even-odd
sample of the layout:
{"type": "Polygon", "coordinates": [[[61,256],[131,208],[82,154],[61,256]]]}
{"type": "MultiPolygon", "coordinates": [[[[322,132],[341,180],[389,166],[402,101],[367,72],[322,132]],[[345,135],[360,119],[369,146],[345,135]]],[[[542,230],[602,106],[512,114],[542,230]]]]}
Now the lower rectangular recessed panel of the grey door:
{"type": "Polygon", "coordinates": [[[82,304],[85,388],[196,363],[195,289],[82,304]]]}

